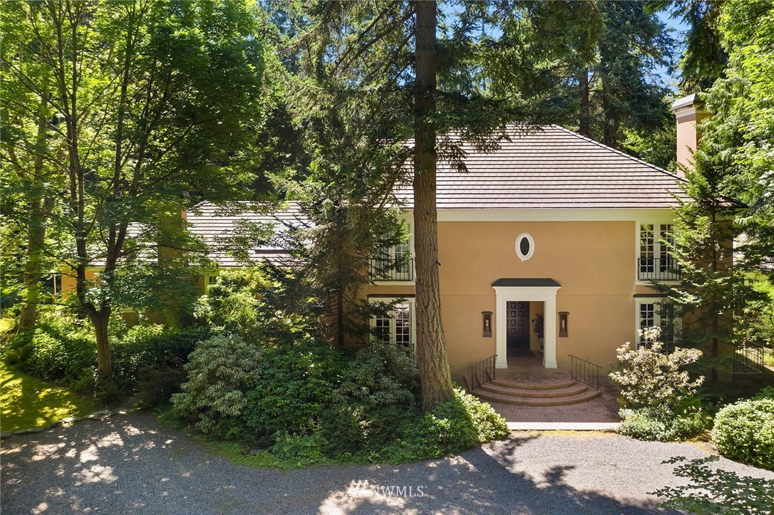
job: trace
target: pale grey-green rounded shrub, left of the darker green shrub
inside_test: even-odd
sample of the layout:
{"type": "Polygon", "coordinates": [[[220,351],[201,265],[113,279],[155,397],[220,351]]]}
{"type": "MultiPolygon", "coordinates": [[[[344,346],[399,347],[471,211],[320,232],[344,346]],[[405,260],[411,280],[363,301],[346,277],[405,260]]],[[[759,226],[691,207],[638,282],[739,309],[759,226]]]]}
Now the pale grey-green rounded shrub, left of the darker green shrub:
{"type": "Polygon", "coordinates": [[[174,412],[203,432],[238,437],[245,420],[245,391],[259,377],[265,351],[235,335],[217,335],[189,355],[188,380],[173,394],[174,412]]]}

